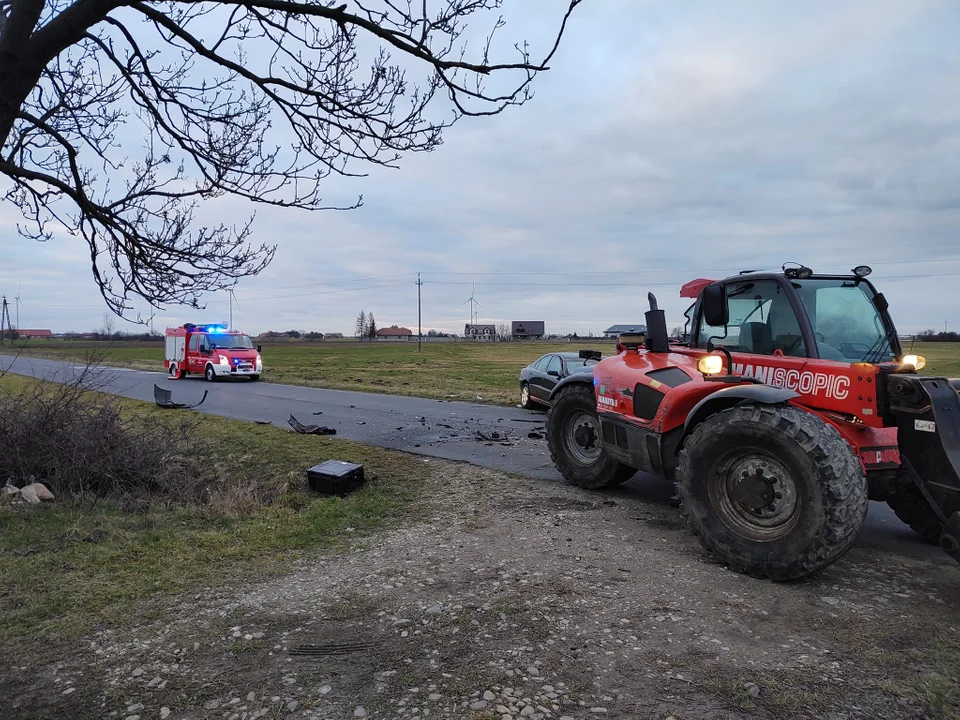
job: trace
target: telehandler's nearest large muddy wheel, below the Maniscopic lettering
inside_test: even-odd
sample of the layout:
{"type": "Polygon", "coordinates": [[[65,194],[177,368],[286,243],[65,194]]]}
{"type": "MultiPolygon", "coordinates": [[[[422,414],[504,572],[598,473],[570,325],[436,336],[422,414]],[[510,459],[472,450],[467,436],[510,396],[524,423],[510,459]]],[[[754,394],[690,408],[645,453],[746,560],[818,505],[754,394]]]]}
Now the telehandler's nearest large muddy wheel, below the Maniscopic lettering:
{"type": "Polygon", "coordinates": [[[738,405],[696,427],[677,469],[681,509],[715,558],[783,581],[844,555],[867,515],[867,480],[840,433],[792,406],[738,405]]]}

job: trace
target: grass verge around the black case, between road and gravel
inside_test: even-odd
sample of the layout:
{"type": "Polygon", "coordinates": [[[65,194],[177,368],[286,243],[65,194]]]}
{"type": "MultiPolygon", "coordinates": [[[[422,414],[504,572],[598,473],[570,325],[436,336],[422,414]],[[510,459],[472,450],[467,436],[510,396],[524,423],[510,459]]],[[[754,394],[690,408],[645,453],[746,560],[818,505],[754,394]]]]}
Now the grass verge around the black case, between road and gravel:
{"type": "MultiPolygon", "coordinates": [[[[31,382],[0,378],[8,389],[31,382]]],[[[158,432],[170,417],[122,405],[158,432]]],[[[125,512],[103,502],[0,503],[0,643],[76,637],[122,622],[158,593],[281,574],[313,548],[410,517],[436,472],[401,453],[223,418],[198,432],[216,486],[208,504],[173,498],[125,512]],[[362,463],[368,482],[346,498],[311,493],[303,471],[328,458],[362,463]]]]}

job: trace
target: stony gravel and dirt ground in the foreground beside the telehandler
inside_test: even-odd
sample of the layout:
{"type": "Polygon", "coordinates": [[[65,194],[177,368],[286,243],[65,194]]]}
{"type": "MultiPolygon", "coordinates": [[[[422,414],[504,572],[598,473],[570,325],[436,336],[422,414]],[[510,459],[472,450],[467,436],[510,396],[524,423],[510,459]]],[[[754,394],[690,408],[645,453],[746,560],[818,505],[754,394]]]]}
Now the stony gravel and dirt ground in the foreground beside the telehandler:
{"type": "Polygon", "coordinates": [[[674,509],[443,465],[415,525],[15,659],[0,715],[960,716],[946,556],[858,547],[774,584],[711,562],[674,509]]]}

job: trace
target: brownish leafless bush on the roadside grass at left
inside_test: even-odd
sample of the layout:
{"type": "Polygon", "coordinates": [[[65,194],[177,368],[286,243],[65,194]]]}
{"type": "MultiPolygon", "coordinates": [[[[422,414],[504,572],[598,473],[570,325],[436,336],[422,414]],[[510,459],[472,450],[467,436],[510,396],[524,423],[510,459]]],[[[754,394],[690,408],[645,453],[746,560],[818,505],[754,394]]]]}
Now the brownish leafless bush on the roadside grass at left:
{"type": "Polygon", "coordinates": [[[31,476],[60,498],[132,506],[157,498],[195,502],[204,492],[199,419],[124,418],[117,399],[90,392],[101,371],[88,364],[68,384],[0,388],[0,484],[31,476]]]}

